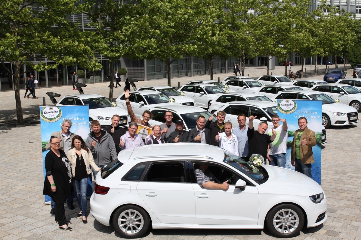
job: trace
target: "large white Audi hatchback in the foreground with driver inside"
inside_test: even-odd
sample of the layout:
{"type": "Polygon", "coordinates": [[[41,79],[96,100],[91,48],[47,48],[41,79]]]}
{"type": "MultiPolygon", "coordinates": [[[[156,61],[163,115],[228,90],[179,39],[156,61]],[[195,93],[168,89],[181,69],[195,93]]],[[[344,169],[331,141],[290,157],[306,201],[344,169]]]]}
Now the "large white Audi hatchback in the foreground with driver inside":
{"type": "Polygon", "coordinates": [[[325,193],[308,176],[255,166],[216,146],[145,145],[118,159],[96,175],[90,212],[123,238],[142,237],[149,228],[268,228],[276,237],[294,237],[327,219],[325,193]],[[201,187],[199,164],[229,188],[201,187]]]}

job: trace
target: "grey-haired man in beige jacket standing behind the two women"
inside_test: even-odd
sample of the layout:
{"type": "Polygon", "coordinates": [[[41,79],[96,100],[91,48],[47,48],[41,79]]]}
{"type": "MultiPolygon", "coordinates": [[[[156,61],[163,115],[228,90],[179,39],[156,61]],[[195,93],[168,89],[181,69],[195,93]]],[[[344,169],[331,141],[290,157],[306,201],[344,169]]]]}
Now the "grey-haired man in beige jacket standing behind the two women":
{"type": "MultiPolygon", "coordinates": [[[[57,131],[57,132],[53,132],[51,134],[51,136],[55,136],[58,139],[60,139],[60,145],[59,145],[59,149],[63,150],[64,153],[66,155],[68,155],[68,151],[71,149],[71,142],[73,141],[73,137],[76,135],[73,132],[70,132],[70,128],[71,125],[73,125],[73,123],[69,120],[69,119],[64,119],[63,122],[61,123],[61,130],[57,131]]],[[[50,150],[50,144],[49,142],[46,144],[45,149],[46,150],[50,150]]],[[[75,189],[75,188],[74,188],[75,189]]],[[[73,193],[74,195],[74,193],[73,193]]],[[[75,207],[73,205],[73,196],[69,196],[67,199],[67,204],[70,210],[73,210],[75,207]]],[[[51,210],[50,210],[50,214],[54,214],[55,213],[55,205],[54,205],[54,201],[51,200],[51,210]]]]}

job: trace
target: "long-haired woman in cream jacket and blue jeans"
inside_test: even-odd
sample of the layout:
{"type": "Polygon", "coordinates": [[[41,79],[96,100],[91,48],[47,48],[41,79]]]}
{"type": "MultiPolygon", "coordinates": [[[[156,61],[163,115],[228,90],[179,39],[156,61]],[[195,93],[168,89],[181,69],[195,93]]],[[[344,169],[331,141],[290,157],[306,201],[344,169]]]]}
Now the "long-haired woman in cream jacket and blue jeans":
{"type": "Polygon", "coordinates": [[[77,199],[80,208],[77,217],[82,217],[83,223],[88,223],[86,211],[88,177],[91,177],[89,165],[92,166],[95,171],[100,171],[100,168],[96,166],[90,149],[79,135],[73,137],[71,150],[68,152],[68,159],[71,164],[71,172],[73,180],[75,181],[75,187],[77,188],[77,199]]]}

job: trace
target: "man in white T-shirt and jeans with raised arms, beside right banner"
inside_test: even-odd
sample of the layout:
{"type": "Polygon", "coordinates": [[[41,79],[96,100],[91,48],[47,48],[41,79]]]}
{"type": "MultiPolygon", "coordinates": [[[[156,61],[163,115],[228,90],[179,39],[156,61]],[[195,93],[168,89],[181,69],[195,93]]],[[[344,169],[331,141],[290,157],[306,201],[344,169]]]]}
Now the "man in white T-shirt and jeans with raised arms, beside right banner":
{"type": "MultiPolygon", "coordinates": [[[[286,167],[287,121],[275,114],[272,116],[272,123],[276,138],[269,144],[268,163],[273,166],[286,167]],[[280,122],[282,122],[282,125],[280,125],[280,122]]],[[[266,134],[272,135],[272,129],[269,129],[266,134]]]]}

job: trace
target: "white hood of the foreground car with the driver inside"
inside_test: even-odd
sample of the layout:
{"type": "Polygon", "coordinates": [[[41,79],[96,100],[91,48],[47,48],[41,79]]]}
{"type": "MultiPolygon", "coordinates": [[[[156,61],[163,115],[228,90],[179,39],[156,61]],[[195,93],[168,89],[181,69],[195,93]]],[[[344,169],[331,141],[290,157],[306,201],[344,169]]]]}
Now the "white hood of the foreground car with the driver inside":
{"type": "Polygon", "coordinates": [[[268,172],[268,180],[258,186],[260,193],[283,193],[311,196],[323,193],[321,186],[312,178],[291,169],[262,165],[268,172]],[[287,186],[287,187],[285,187],[287,186]]]}

